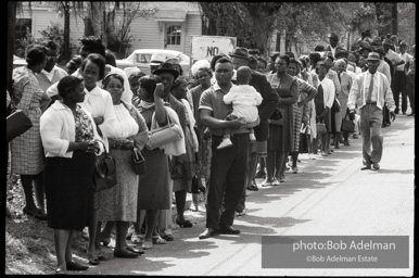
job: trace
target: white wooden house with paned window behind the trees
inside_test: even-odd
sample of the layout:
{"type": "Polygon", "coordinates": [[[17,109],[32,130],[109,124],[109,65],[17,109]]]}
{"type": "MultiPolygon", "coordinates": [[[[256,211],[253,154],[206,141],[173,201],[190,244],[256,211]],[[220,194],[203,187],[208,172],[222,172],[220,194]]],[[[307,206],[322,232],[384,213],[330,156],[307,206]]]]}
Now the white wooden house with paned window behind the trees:
{"type": "MultiPolygon", "coordinates": [[[[153,15],[137,17],[130,25],[129,35],[132,36],[132,45],[127,55],[135,49],[170,49],[191,53],[191,36],[202,35],[202,12],[198,2],[141,2],[147,8],[157,8],[153,15]]],[[[40,30],[51,26],[51,23],[60,24],[64,28],[64,17],[59,15],[54,7],[31,4],[31,15],[27,9],[16,15],[16,38],[29,29],[31,36],[41,38],[40,30]]],[[[26,7],[26,5],[24,5],[26,7]]],[[[115,25],[122,20],[123,12],[116,12],[115,25]]],[[[79,39],[85,33],[85,23],[80,16],[75,16],[71,11],[69,43],[73,51],[77,52],[79,39]]],[[[117,28],[117,26],[116,26],[117,28]]]]}

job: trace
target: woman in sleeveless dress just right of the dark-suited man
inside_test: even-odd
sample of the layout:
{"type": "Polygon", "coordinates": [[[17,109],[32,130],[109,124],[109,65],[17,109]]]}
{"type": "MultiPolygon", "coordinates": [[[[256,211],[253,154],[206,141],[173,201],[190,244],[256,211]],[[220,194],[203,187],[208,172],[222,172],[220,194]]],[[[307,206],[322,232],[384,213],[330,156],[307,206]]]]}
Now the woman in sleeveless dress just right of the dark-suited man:
{"type": "Polygon", "coordinates": [[[292,151],[293,141],[293,108],[297,101],[295,78],[287,74],[290,65],[288,55],[279,55],[275,60],[276,73],[267,76],[270,86],[279,96],[278,117],[270,121],[268,138],[268,155],[266,161],[267,177],[262,186],[278,186],[284,181],[288,154],[292,151]]]}

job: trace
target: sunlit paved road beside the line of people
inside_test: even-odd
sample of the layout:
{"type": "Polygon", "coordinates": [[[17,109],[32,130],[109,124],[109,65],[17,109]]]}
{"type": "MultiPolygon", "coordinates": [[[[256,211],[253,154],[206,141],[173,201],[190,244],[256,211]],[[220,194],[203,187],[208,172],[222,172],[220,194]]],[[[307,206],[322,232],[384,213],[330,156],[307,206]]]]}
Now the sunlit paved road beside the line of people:
{"type": "MultiPolygon", "coordinates": [[[[240,236],[199,240],[204,212],[188,212],[192,228],[136,260],[114,258],[86,275],[152,276],[411,276],[414,247],[415,118],[398,115],[384,128],[381,169],[360,170],[361,139],[328,157],[301,155],[301,173],[278,187],[250,192],[247,215],[236,218],[240,236]],[[410,236],[409,269],[266,269],[262,236],[410,236]]],[[[258,184],[262,179],[258,180],[258,184]]],[[[112,243],[111,243],[112,244],[112,243]]],[[[86,262],[86,260],[85,260],[86,262]]]]}

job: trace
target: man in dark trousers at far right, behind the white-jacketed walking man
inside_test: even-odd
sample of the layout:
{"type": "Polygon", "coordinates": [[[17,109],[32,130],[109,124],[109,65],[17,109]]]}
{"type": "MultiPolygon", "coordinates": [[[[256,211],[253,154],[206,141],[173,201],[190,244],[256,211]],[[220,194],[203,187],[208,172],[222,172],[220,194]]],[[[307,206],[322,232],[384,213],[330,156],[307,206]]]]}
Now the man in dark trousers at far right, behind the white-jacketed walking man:
{"type": "Polygon", "coordinates": [[[394,102],[396,103],[396,114],[398,112],[398,101],[399,101],[399,94],[402,92],[402,113],[406,114],[407,110],[407,94],[406,94],[406,73],[405,73],[405,66],[410,61],[411,55],[409,55],[407,52],[407,43],[405,41],[402,41],[399,45],[399,51],[403,61],[405,61],[405,64],[401,64],[396,67],[396,72],[394,74],[394,85],[393,85],[393,97],[394,102]]]}

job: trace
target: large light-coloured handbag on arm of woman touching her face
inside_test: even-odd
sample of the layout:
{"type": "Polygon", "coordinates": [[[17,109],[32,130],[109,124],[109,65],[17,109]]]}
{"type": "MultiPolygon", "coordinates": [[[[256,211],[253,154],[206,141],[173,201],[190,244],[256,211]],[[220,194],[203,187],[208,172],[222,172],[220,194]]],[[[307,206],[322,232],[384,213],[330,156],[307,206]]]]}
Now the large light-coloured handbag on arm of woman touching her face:
{"type": "Polygon", "coordinates": [[[166,143],[180,140],[182,138],[181,127],[170,122],[167,115],[167,125],[149,131],[149,139],[145,143],[148,150],[154,150],[166,143]]]}

